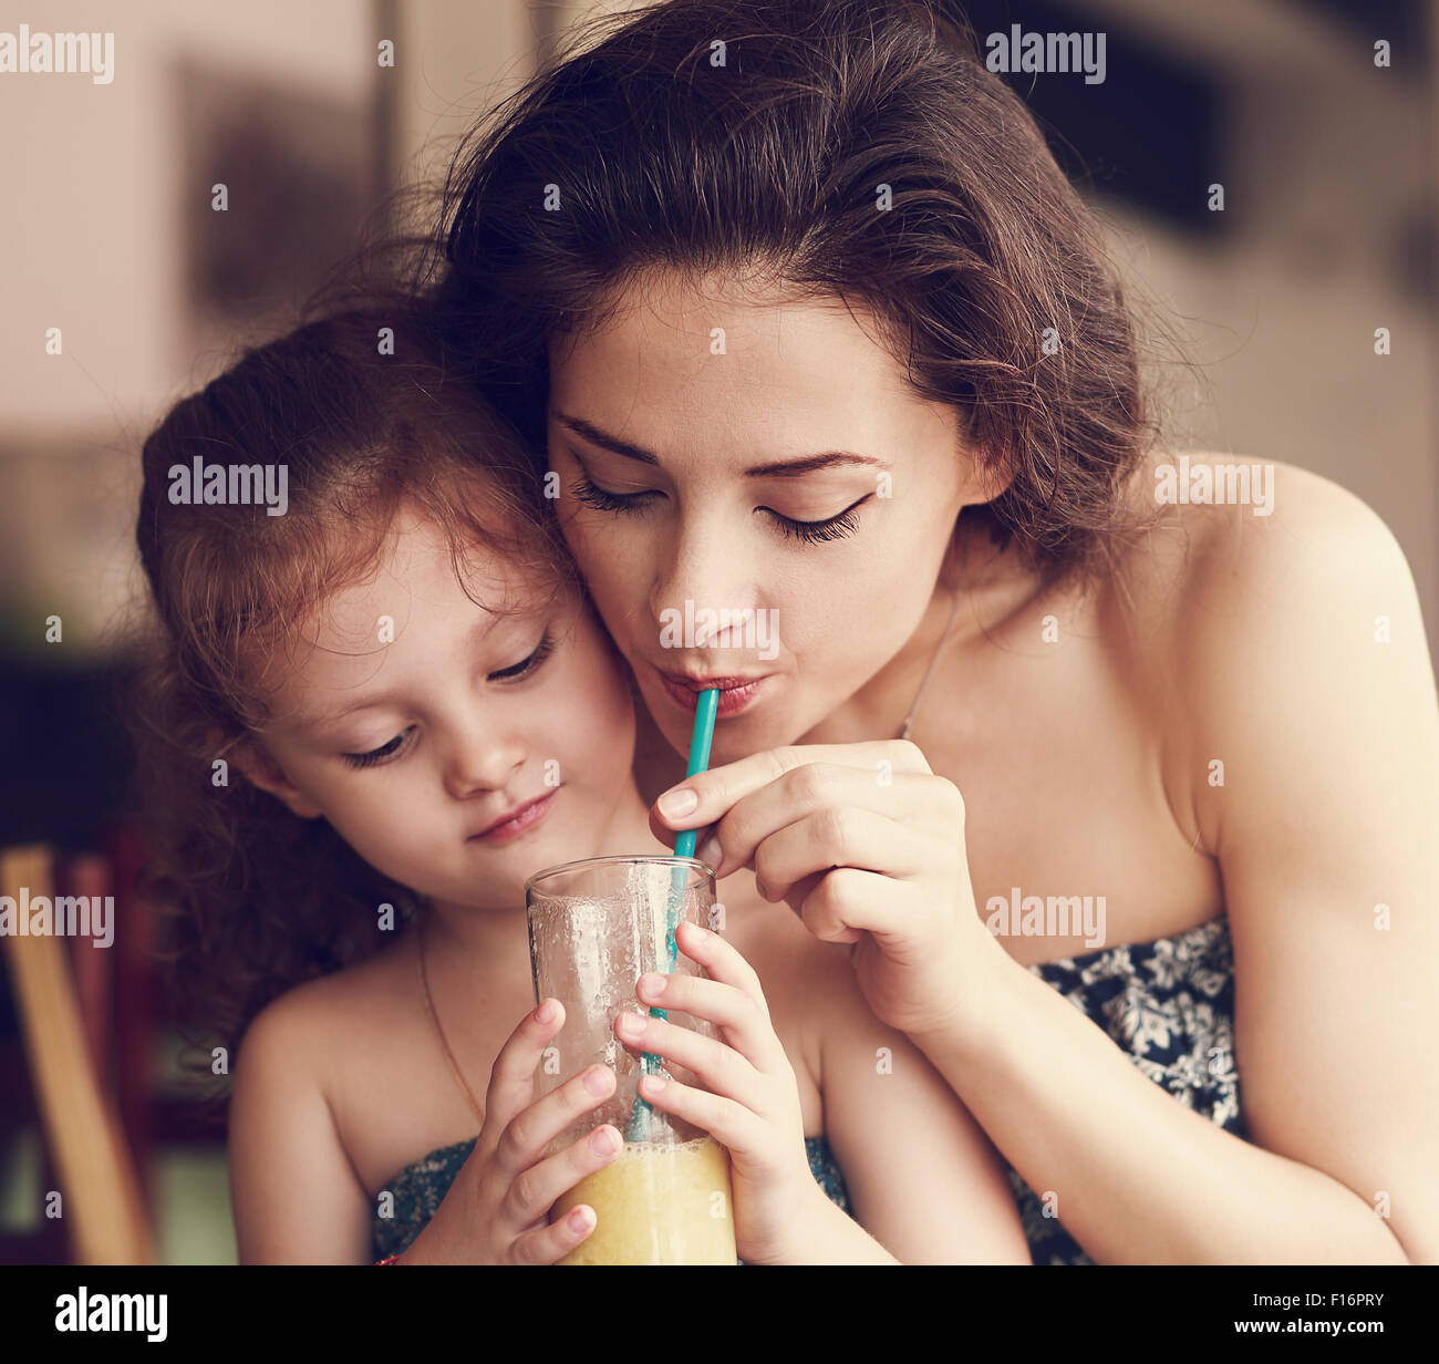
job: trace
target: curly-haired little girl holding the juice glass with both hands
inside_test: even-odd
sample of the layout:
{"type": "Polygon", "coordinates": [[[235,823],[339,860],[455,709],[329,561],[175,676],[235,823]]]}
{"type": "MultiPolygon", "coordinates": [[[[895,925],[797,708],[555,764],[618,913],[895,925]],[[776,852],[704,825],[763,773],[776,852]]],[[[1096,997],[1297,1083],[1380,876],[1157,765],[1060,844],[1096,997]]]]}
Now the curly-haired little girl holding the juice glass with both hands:
{"type": "MultiPolygon", "coordinates": [[[[553,1263],[596,1217],[551,1204],[620,1134],[544,1154],[614,1076],[534,1096],[564,1010],[532,1006],[522,885],[669,849],[630,773],[629,679],[524,450],[419,311],[357,311],[170,413],[137,537],[163,627],[153,888],[216,1055],[243,1035],[240,1259],[553,1263]],[[281,514],[246,486],[285,489],[281,514]]],[[[715,1039],[616,1035],[698,1076],[645,1096],[728,1147],[741,1259],[1027,1263],[996,1152],[846,950],[753,878],[724,901],[724,937],[679,937],[711,981],[669,996],[715,1039]]]]}

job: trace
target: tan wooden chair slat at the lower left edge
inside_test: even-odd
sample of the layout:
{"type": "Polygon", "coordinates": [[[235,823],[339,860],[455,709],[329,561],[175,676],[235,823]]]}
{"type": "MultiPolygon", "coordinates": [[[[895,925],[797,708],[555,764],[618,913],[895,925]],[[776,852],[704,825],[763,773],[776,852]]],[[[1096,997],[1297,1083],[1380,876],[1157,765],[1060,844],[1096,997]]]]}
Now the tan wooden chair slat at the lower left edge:
{"type": "MultiPolygon", "coordinates": [[[[45,846],[0,852],[0,895],[19,904],[50,896],[53,856],[45,846]]],[[[66,942],[59,937],[0,937],[10,968],[45,1141],[59,1174],[63,1222],[78,1265],[153,1265],[154,1240],[140,1181],[114,1106],[96,1073],[95,1014],[81,1007],[66,942]]],[[[89,952],[108,951],[83,944],[89,952]]],[[[83,973],[82,973],[83,977],[83,973]]],[[[86,993],[95,988],[86,978],[86,993]]]]}

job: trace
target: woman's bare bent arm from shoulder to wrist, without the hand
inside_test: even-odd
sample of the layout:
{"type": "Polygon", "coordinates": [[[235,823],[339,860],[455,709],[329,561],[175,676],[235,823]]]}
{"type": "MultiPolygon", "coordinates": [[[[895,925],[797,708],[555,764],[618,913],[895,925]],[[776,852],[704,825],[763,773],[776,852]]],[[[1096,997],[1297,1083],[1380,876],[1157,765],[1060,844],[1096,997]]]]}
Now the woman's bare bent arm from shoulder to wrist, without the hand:
{"type": "Polygon", "coordinates": [[[1017,965],[915,1040],[1097,1260],[1432,1263],[1439,708],[1407,565],[1367,508],[1285,469],[1275,515],[1240,509],[1193,584],[1174,724],[1256,1144],[1017,965]]]}

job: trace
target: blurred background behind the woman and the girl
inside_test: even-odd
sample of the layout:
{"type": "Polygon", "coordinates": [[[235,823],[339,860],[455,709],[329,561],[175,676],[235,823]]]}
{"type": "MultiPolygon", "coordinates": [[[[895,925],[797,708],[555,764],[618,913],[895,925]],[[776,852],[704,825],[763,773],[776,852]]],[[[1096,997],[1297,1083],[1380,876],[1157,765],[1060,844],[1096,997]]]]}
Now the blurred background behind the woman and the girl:
{"type": "MultiPolygon", "coordinates": [[[[75,1121],[114,1129],[98,1158],[132,1176],[154,1258],[235,1259],[224,1134],[177,1091],[155,928],[131,889],[141,849],[114,698],[138,591],[140,443],[237,338],[283,325],[391,190],[443,174],[456,138],[576,19],[617,7],[0,3],[0,33],[115,35],[109,83],[0,73],[0,847],[43,843],[58,885],[114,894],[121,924],[112,950],[73,951],[73,1026],[63,1007],[47,1024],[33,1011],[69,976],[24,1004],[13,960],[0,977],[0,1262],[85,1253],[72,1217],[46,1216],[76,1157],[37,1101],[37,1072],[63,1088],[68,1063],[35,1035],[66,1027],[105,1105],[75,1121]]],[[[981,37],[1105,33],[1102,83],[1006,79],[1200,367],[1164,376],[1181,384],[1170,446],[1284,460],[1363,498],[1403,545],[1439,645],[1435,6],[964,10],[981,37]]]]}

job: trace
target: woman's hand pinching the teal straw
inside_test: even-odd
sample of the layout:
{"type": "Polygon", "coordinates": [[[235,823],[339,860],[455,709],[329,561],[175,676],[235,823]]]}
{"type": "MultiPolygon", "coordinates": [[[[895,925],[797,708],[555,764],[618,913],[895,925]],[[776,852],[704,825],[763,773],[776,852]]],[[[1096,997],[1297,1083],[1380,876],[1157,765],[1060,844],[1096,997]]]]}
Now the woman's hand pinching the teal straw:
{"type": "Polygon", "coordinates": [[[816,938],[853,942],[875,1016],[912,1036],[979,1017],[1004,950],[974,908],[964,800],[908,740],[773,748],[686,777],[655,801],[650,827],[717,824],[695,856],[727,876],[754,869],[816,938]],[[694,809],[668,813],[694,791],[694,809]]]}

